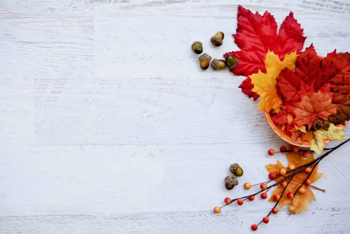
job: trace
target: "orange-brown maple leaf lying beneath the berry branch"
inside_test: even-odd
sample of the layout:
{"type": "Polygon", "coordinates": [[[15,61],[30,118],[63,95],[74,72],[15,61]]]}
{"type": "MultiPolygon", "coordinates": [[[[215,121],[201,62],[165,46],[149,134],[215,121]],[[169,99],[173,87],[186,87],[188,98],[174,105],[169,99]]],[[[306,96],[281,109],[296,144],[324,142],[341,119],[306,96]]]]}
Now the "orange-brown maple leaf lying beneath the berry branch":
{"type": "MultiPolygon", "coordinates": [[[[302,156],[301,152],[288,152],[286,153],[286,157],[288,160],[288,164],[294,164],[296,167],[304,165],[306,163],[311,162],[312,160],[314,160],[314,154],[310,153],[308,158],[304,159],[304,157],[302,156]]],[[[313,166],[313,165],[312,165],[313,166]]],[[[276,164],[268,164],[266,165],[266,168],[269,172],[273,172],[275,174],[278,174],[280,168],[283,168],[283,164],[280,161],[277,161],[276,164]]],[[[311,180],[311,182],[315,182],[316,180],[318,180],[319,178],[321,178],[321,176],[323,175],[323,173],[318,173],[318,166],[315,167],[314,171],[312,172],[312,174],[310,175],[309,179],[311,180]]],[[[285,175],[287,176],[288,173],[285,175]]],[[[306,179],[306,177],[308,176],[308,174],[304,171],[299,172],[298,174],[296,174],[292,181],[288,184],[288,186],[286,187],[285,192],[283,193],[280,201],[279,201],[279,206],[280,209],[282,209],[285,205],[287,204],[291,204],[292,203],[292,199],[289,199],[287,197],[287,193],[288,192],[292,192],[294,193],[297,188],[304,182],[304,180],[306,179]]],[[[275,179],[275,181],[279,181],[281,180],[282,177],[275,179]]],[[[308,210],[308,205],[309,205],[309,200],[315,200],[315,195],[313,193],[313,191],[310,189],[309,186],[305,186],[303,185],[305,188],[305,193],[301,194],[299,192],[297,192],[297,194],[293,197],[293,205],[296,207],[296,213],[300,213],[301,211],[306,211],[308,210]]],[[[270,202],[276,202],[273,198],[274,194],[280,194],[282,193],[284,187],[282,187],[281,185],[278,185],[276,187],[276,189],[274,191],[272,191],[271,197],[269,198],[270,202]]]]}

